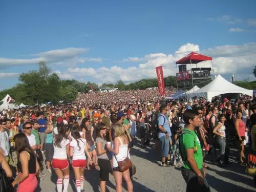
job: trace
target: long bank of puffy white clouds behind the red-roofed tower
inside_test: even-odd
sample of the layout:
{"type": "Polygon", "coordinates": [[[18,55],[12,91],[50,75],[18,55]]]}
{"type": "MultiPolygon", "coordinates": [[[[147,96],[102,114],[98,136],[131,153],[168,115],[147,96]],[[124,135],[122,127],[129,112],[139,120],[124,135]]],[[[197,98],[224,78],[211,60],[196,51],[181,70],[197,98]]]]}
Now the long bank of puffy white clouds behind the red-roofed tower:
{"type": "MultiPolygon", "coordinates": [[[[110,68],[69,68],[65,72],[61,72],[61,78],[84,77],[84,80],[92,82],[106,82],[116,83],[118,80],[127,82],[134,82],[142,78],[156,78],[156,67],[163,66],[164,76],[176,75],[175,62],[188,54],[191,51],[199,52],[199,46],[195,44],[187,43],[181,46],[174,54],[165,53],[152,53],[143,57],[130,57],[139,58],[137,67],[122,68],[119,66],[112,66],[110,68]]],[[[224,77],[229,77],[231,74],[236,75],[236,79],[254,78],[252,70],[256,66],[256,43],[244,45],[225,45],[209,48],[207,50],[200,51],[201,54],[205,54],[213,57],[213,68],[215,74],[222,74],[224,77]]],[[[129,58],[128,58],[129,59],[129,58]]],[[[132,62],[132,59],[130,59],[132,62]]],[[[211,66],[209,61],[199,63],[199,67],[211,66]]],[[[190,65],[188,66],[188,68],[190,65]]],[[[229,79],[228,79],[229,80],[229,79]]]]}

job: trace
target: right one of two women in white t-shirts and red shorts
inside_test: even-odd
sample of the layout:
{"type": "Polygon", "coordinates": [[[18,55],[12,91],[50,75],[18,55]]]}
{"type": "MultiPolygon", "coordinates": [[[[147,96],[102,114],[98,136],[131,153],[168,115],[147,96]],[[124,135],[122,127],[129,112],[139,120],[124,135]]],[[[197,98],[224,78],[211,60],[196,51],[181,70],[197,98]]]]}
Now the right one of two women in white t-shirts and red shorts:
{"type": "Polygon", "coordinates": [[[75,178],[76,178],[76,189],[77,191],[84,191],[83,190],[83,181],[84,181],[84,168],[86,168],[86,152],[87,156],[89,157],[90,164],[92,164],[92,159],[88,152],[86,139],[82,138],[78,127],[74,126],[71,130],[71,136],[74,138],[70,142],[70,156],[73,157],[72,160],[72,167],[74,169],[75,178]]]}

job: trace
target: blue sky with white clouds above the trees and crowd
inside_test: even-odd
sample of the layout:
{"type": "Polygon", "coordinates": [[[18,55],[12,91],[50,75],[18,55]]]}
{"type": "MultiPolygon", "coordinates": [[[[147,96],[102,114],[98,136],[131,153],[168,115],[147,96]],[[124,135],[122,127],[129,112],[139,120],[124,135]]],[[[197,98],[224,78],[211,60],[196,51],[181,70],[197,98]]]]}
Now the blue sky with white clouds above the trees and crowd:
{"type": "Polygon", "coordinates": [[[190,51],[215,73],[254,80],[256,2],[1,1],[0,90],[45,60],[63,79],[133,82],[175,75],[190,51]]]}

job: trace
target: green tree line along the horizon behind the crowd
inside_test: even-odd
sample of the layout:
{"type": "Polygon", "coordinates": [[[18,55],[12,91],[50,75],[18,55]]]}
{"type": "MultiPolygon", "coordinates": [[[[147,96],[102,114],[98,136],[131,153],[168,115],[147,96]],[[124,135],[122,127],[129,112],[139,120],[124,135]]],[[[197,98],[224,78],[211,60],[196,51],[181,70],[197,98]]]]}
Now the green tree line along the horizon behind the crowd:
{"type": "MultiPolygon", "coordinates": [[[[255,68],[256,69],[256,68],[255,68]]],[[[255,71],[255,70],[254,70],[255,71]]],[[[0,99],[9,94],[17,103],[28,105],[39,103],[58,103],[72,102],[76,99],[77,94],[88,93],[91,86],[94,91],[103,88],[118,88],[120,91],[125,90],[144,90],[147,88],[158,87],[157,78],[141,79],[133,83],[125,84],[119,80],[117,83],[103,83],[101,86],[94,82],[79,82],[77,80],[61,80],[56,73],[52,73],[44,61],[39,62],[39,69],[20,74],[20,83],[16,86],[5,89],[0,92],[0,99]]],[[[176,76],[164,77],[165,88],[177,87],[176,76]]],[[[202,88],[209,82],[194,81],[194,85],[202,88]]],[[[250,90],[256,90],[256,81],[236,81],[240,87],[250,90]]],[[[189,90],[192,88],[191,82],[178,82],[179,89],[189,90]]],[[[0,103],[1,104],[1,103],[0,103]]]]}

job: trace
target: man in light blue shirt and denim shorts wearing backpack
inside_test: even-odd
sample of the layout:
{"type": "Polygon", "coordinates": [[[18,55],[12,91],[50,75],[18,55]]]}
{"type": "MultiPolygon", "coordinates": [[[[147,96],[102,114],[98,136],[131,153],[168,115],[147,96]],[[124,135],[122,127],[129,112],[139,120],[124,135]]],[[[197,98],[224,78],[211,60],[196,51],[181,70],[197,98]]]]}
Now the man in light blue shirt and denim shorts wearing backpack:
{"type": "Polygon", "coordinates": [[[168,108],[167,104],[160,106],[160,114],[158,115],[158,140],[160,141],[162,151],[162,166],[167,167],[170,164],[170,149],[172,145],[172,133],[166,116],[168,108]],[[167,158],[167,159],[166,159],[167,158]]]}

